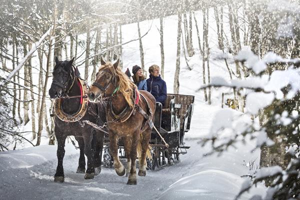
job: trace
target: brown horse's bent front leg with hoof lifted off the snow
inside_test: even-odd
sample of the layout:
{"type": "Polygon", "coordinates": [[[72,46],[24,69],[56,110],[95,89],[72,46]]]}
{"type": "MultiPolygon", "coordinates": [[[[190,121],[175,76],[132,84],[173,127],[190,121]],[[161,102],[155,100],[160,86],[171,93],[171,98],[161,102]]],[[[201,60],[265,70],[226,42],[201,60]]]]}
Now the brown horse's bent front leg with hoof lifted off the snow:
{"type": "Polygon", "coordinates": [[[114,170],[116,174],[122,176],[125,174],[125,168],[117,156],[117,134],[114,132],[109,133],[109,140],[110,140],[110,152],[113,157],[114,170]]]}

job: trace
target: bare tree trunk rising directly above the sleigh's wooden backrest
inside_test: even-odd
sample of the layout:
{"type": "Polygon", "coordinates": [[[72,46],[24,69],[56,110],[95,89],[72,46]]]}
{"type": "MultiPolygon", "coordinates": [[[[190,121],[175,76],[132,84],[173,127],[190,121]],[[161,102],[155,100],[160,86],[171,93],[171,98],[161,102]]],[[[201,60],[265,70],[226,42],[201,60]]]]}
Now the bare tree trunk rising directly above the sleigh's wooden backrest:
{"type": "Polygon", "coordinates": [[[176,53],[176,69],[174,76],[174,87],[173,92],[179,93],[179,72],[180,72],[180,38],[181,38],[181,14],[178,14],[178,25],[177,25],[177,53],[176,53]]]}

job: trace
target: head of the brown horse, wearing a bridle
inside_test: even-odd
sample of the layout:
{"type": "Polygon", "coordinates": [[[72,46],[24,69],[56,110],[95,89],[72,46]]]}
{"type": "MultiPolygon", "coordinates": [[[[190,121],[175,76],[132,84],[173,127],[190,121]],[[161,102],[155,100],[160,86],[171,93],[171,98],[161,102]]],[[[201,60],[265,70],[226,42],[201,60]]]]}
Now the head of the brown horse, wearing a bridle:
{"type": "Polygon", "coordinates": [[[95,101],[99,96],[111,96],[116,92],[118,87],[118,76],[116,74],[119,59],[115,63],[105,62],[102,57],[100,59],[101,66],[96,73],[96,79],[87,91],[90,101],[95,101]]]}

